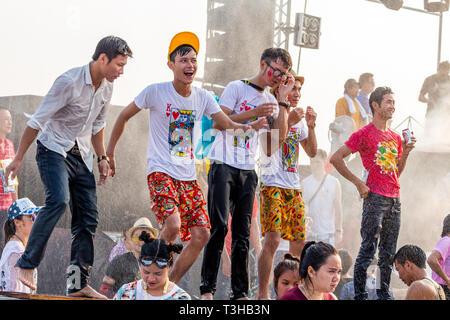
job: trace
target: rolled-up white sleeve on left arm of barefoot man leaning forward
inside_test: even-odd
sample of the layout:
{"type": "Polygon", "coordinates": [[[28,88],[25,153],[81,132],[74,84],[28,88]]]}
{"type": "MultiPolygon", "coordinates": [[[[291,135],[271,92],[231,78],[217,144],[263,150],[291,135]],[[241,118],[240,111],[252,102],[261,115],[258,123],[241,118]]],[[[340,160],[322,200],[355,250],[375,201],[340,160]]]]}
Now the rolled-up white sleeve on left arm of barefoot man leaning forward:
{"type": "Polygon", "coordinates": [[[73,80],[66,76],[59,76],[47,95],[42,100],[39,108],[28,120],[27,125],[35,130],[44,129],[45,123],[70,100],[72,95],[73,80]]]}

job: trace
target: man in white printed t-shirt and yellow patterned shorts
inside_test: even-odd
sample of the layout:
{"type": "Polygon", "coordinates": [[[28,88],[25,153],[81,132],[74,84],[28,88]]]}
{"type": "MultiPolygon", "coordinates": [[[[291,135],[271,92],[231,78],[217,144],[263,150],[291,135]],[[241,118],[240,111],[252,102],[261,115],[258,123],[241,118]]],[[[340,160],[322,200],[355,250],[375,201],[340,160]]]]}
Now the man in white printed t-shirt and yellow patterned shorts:
{"type": "MultiPolygon", "coordinates": [[[[293,73],[293,71],[291,71],[293,73]]],[[[304,78],[294,74],[294,87],[288,94],[289,133],[271,147],[261,141],[261,231],[264,245],[258,259],[258,299],[269,299],[269,279],[275,252],[281,239],[289,241],[289,252],[300,257],[305,244],[305,214],[298,173],[300,146],[309,156],[317,152],[314,132],[316,113],[298,107],[304,78]],[[292,109],[291,109],[292,108],[292,109]],[[306,130],[301,121],[306,118],[306,130]]],[[[273,90],[279,96],[279,88],[273,90]]]]}

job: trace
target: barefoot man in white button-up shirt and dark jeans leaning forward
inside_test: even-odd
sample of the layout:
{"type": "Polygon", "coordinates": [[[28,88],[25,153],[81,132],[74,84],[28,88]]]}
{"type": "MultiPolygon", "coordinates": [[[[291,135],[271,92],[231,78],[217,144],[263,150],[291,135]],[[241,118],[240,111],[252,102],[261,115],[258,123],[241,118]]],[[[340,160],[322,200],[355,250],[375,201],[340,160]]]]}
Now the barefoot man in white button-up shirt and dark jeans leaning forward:
{"type": "Polygon", "coordinates": [[[33,270],[43,258],[56,223],[70,205],[72,249],[67,294],[106,299],[87,284],[94,263],[93,238],[98,224],[90,146],[92,141],[98,157],[98,184],[103,185],[110,170],[104,145],[105,115],[113,81],[123,73],[128,57],[132,57],[132,51],[127,43],[108,36],[97,44],[93,61],[59,76],[27,122],[16,157],[6,169],[7,176],[17,175],[26,151],[42,130],[37,138],[36,161],[45,189],[45,207],[16,265],[19,279],[32,289],[33,270]]]}

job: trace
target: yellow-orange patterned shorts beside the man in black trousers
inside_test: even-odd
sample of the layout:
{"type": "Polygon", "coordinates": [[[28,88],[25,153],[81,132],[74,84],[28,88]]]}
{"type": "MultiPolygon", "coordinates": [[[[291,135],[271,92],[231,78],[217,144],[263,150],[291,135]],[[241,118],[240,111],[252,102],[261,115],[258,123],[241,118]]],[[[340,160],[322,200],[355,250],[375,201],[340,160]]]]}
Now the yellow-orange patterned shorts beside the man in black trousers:
{"type": "Polygon", "coordinates": [[[261,229],[289,241],[305,240],[305,204],[300,190],[261,187],[261,229]]]}

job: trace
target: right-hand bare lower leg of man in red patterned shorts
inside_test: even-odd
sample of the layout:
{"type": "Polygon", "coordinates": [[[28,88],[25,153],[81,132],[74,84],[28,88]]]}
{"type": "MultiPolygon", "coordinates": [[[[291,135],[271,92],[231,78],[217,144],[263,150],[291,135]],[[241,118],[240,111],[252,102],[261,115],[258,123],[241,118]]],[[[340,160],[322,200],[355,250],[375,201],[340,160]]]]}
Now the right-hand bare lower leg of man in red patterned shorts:
{"type": "Polygon", "coordinates": [[[205,227],[192,227],[191,240],[188,245],[181,251],[170,271],[169,279],[177,283],[189,268],[197,260],[198,255],[202,251],[209,239],[209,229],[205,227]]]}

